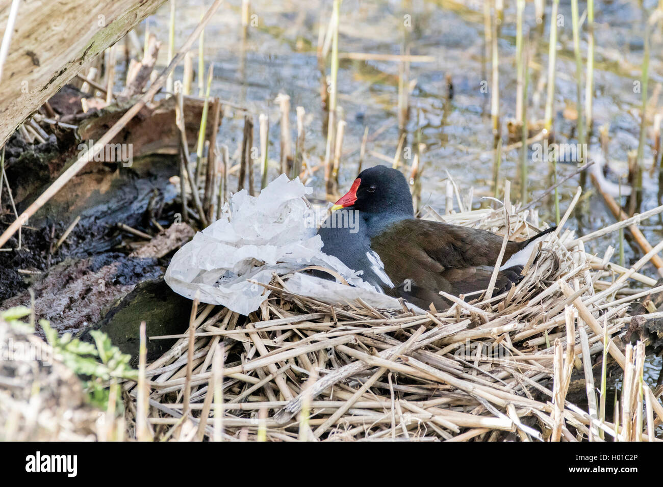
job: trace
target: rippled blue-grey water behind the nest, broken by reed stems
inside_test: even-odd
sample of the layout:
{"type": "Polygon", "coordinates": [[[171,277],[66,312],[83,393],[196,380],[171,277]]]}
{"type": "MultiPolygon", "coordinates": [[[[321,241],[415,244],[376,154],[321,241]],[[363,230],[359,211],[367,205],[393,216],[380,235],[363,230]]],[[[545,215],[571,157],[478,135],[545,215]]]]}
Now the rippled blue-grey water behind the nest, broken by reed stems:
{"type": "MultiPolygon", "coordinates": [[[[201,6],[210,1],[178,0],[176,46],[196,26],[201,6]]],[[[514,117],[516,106],[516,3],[505,2],[505,21],[499,33],[500,109],[503,136],[507,120],[514,117]]],[[[532,2],[526,4],[525,32],[529,32],[532,49],[530,63],[530,102],[528,118],[544,117],[548,68],[548,28],[550,3],[546,2],[546,17],[537,25],[532,2]]],[[[640,64],[643,54],[644,22],[656,0],[603,1],[595,7],[595,97],[594,134],[589,139],[590,150],[599,148],[598,127],[609,124],[609,164],[617,174],[627,172],[627,153],[638,146],[640,133],[640,64]]],[[[580,2],[580,11],[585,3],[580,2]]],[[[573,111],[576,100],[575,60],[570,3],[560,5],[556,75],[557,142],[575,143],[575,121],[566,117],[573,111]],[[567,108],[570,108],[567,109],[567,108]]],[[[159,65],[166,65],[169,7],[164,5],[150,17],[151,32],[158,32],[164,43],[159,65]]],[[[251,1],[251,25],[244,38],[241,29],[241,1],[225,2],[206,28],[205,60],[215,66],[212,93],[222,99],[248,107],[253,113],[267,113],[270,118],[269,153],[278,159],[279,127],[278,93],[290,95],[292,131],[296,127],[294,108],[306,109],[306,158],[309,166],[317,166],[324,159],[326,115],[320,102],[320,71],[316,49],[320,19],[324,25],[331,15],[331,2],[322,0],[251,1]],[[255,17],[254,17],[255,16],[255,17]]],[[[656,85],[663,81],[663,58],[660,55],[662,31],[656,28],[651,38],[649,67],[649,95],[656,96],[656,85]]],[[[410,54],[432,56],[433,62],[412,62],[410,80],[416,85],[410,95],[410,121],[406,146],[414,140],[419,129],[426,144],[422,157],[422,202],[444,210],[444,188],[448,174],[459,184],[461,192],[474,188],[473,207],[479,207],[482,195],[492,195],[493,135],[490,119],[490,95],[481,87],[490,86],[490,60],[485,56],[482,1],[379,1],[344,0],[339,21],[339,52],[369,52],[402,54],[406,46],[410,54]],[[453,98],[448,99],[446,77],[453,83],[453,98]]],[[[583,35],[581,52],[587,52],[583,35]]],[[[198,67],[198,50],[192,50],[194,69],[198,67]]],[[[584,68],[583,68],[584,69],[584,68]]],[[[329,71],[327,71],[329,72],[329,71]]],[[[398,145],[398,72],[397,62],[361,61],[341,58],[338,74],[338,104],[347,122],[343,142],[340,173],[341,189],[347,188],[357,174],[359,146],[364,128],[369,127],[369,143],[364,167],[385,164],[374,154],[392,158],[398,145]],[[379,135],[375,136],[375,133],[379,135]]],[[[584,76],[584,75],[583,75],[584,76]]],[[[176,71],[176,79],[182,70],[176,71]]],[[[583,82],[584,86],[584,82],[583,82]]],[[[194,81],[194,92],[198,92],[194,81]]],[[[658,100],[654,106],[658,106],[658,100]]],[[[650,110],[653,113],[653,110],[650,110]]],[[[228,144],[231,156],[239,154],[243,117],[240,111],[227,108],[219,132],[219,142],[228,144]]],[[[651,123],[650,123],[651,125],[651,123]]],[[[257,134],[257,131],[256,131],[257,134]]],[[[257,145],[257,135],[255,138],[257,145]]],[[[652,164],[651,138],[644,148],[644,164],[652,164]]],[[[506,143],[506,141],[505,141],[506,143]]],[[[503,154],[501,181],[512,180],[512,195],[519,194],[517,165],[519,150],[503,154]]],[[[531,159],[531,158],[530,158],[531,159]]],[[[558,164],[558,178],[575,172],[574,164],[558,164]]],[[[276,176],[276,170],[273,170],[276,176]]],[[[642,210],[658,205],[658,169],[652,178],[644,176],[642,210]]],[[[322,171],[310,182],[316,195],[324,199],[322,171]]],[[[552,184],[548,163],[529,162],[528,191],[536,197],[552,184]]],[[[578,178],[560,187],[560,209],[563,212],[572,199],[578,178]]],[[[233,188],[235,183],[230,184],[233,188]]],[[[579,233],[614,223],[599,195],[589,188],[589,196],[579,203],[579,211],[568,227],[579,233]]],[[[552,196],[537,204],[542,221],[554,220],[552,196]]],[[[642,225],[650,243],[663,238],[663,221],[654,217],[642,225]]],[[[603,254],[609,244],[618,245],[617,235],[607,235],[591,242],[587,250],[603,254]]],[[[640,252],[627,245],[627,265],[640,252]]],[[[656,276],[648,265],[642,271],[656,276]]],[[[652,359],[647,366],[648,382],[658,376],[661,359],[652,359]]]]}

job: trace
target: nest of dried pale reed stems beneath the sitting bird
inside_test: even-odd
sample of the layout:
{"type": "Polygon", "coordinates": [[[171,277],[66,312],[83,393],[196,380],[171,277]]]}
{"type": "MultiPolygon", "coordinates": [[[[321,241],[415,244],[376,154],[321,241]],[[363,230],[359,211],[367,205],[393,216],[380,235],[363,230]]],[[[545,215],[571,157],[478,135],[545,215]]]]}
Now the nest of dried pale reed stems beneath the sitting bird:
{"type": "MultiPolygon", "coordinates": [[[[644,347],[618,339],[629,303],[646,294],[630,290],[628,278],[654,281],[637,272],[648,259],[627,270],[609,263],[611,250],[585,253],[583,242],[621,224],[583,239],[562,231],[578,196],[520,284],[501,296],[455,298],[446,311],[413,315],[295,296],[274,276],[270,298],[248,317],[194,303],[188,333],[149,365],[143,354],[139,383],[125,384],[129,436],[654,441],[663,408],[642,381],[644,347]],[[609,360],[624,370],[611,418],[605,386],[596,393],[609,360]],[[586,384],[578,404],[566,397],[572,374],[586,384]]],[[[424,210],[502,235],[508,227],[510,239],[538,231],[536,213],[511,205],[508,215],[424,210]]]]}

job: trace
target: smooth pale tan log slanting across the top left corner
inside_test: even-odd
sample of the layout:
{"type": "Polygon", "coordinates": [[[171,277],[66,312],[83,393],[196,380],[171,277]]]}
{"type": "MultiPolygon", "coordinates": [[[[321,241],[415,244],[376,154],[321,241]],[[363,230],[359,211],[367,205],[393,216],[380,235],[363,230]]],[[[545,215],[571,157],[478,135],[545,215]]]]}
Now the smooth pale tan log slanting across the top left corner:
{"type": "MultiPolygon", "coordinates": [[[[165,0],[24,0],[0,90],[0,145],[86,62],[122,38],[165,0]]],[[[0,0],[0,30],[11,0],[0,0]]]]}

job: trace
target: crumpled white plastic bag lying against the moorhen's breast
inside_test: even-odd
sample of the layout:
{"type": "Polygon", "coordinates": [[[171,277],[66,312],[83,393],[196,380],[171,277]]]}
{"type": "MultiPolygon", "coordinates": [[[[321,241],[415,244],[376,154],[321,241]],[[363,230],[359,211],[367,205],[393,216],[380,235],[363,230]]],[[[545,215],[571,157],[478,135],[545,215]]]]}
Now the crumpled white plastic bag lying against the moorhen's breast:
{"type": "Polygon", "coordinates": [[[333,256],[324,254],[316,235],[316,213],[302,197],[312,193],[296,178],[282,174],[255,197],[242,189],[231,196],[221,218],[176,252],[164,280],[186,298],[219,304],[247,315],[259,309],[269,290],[251,281],[268,284],[280,276],[310,265],[335,270],[351,288],[295,273],[285,281],[293,294],[310,296],[331,304],[353,303],[361,298],[369,305],[401,309],[390,298],[361,280],[333,256]]]}

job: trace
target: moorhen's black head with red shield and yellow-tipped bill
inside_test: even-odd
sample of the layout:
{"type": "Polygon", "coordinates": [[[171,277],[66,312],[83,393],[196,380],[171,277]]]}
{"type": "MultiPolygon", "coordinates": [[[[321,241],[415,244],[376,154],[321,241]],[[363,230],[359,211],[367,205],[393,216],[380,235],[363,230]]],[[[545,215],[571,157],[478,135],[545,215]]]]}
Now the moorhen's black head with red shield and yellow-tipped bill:
{"type": "Polygon", "coordinates": [[[365,213],[414,216],[405,176],[387,166],[375,166],[359,173],[350,190],[331,209],[348,207],[365,213]]]}

